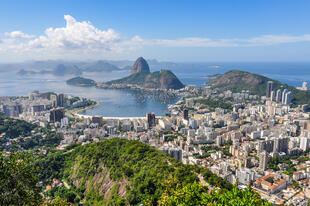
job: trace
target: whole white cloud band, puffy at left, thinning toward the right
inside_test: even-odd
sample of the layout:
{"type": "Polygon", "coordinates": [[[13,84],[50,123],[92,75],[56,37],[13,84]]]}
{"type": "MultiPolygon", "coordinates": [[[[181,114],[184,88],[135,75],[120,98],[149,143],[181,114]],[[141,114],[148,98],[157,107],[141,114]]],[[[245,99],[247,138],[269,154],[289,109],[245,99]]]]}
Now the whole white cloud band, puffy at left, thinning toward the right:
{"type": "Polygon", "coordinates": [[[213,39],[185,37],[178,39],[145,39],[139,35],[124,38],[113,29],[96,28],[89,21],[77,21],[64,15],[65,26],[47,28],[43,35],[33,36],[22,31],[6,32],[0,38],[2,51],[39,53],[62,57],[63,54],[103,54],[123,52],[143,47],[254,47],[276,44],[309,42],[310,34],[305,35],[261,35],[250,38],[213,39]],[[53,53],[53,54],[52,54],[53,53]]]}

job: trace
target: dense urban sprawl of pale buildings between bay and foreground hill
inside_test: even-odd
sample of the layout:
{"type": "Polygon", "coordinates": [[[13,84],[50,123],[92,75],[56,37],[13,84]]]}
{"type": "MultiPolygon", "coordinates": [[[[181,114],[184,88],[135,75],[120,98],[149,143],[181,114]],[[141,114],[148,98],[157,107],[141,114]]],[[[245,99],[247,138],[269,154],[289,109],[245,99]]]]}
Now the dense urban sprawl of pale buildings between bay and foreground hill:
{"type": "MultiPolygon", "coordinates": [[[[307,85],[298,89],[307,90],[307,85]]],[[[208,167],[240,189],[251,185],[269,202],[307,205],[308,105],[292,108],[292,93],[287,89],[275,91],[272,81],[267,83],[265,96],[195,86],[186,86],[175,94],[182,98],[169,105],[165,116],[87,116],[78,112],[95,106],[95,101],[38,91],[28,97],[0,97],[0,111],[51,127],[63,137],[59,150],[72,143],[87,144],[114,137],[138,140],[185,164],[208,167]]],[[[10,147],[14,141],[9,138],[5,146],[10,147]]],[[[57,184],[61,180],[54,180],[53,186],[57,184]]],[[[46,185],[47,190],[50,188],[46,185]]]]}

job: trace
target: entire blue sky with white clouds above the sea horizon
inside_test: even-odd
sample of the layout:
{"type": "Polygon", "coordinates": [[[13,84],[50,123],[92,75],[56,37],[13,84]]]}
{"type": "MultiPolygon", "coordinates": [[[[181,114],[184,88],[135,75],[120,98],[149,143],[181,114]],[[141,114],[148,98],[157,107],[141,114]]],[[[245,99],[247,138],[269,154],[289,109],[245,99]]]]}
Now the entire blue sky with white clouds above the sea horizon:
{"type": "Polygon", "coordinates": [[[0,62],[309,61],[309,0],[2,0],[0,62]]]}

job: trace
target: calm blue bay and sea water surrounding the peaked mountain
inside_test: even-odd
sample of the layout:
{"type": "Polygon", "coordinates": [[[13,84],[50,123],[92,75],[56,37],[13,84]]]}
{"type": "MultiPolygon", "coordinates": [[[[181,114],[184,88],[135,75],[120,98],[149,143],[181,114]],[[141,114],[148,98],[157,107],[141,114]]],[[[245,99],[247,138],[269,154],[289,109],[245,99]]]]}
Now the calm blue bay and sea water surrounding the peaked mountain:
{"type": "MultiPolygon", "coordinates": [[[[220,74],[232,69],[249,71],[277,79],[283,83],[299,86],[303,81],[310,81],[310,63],[182,63],[175,66],[153,66],[152,71],[172,70],[184,84],[203,85],[210,74],[220,74]],[[218,65],[220,68],[212,68],[218,65]]],[[[100,106],[84,112],[89,115],[133,117],[144,116],[146,112],[163,115],[170,102],[160,102],[152,97],[143,97],[136,92],[111,89],[81,88],[69,86],[65,81],[72,76],[56,77],[53,75],[18,76],[17,71],[0,71],[0,96],[22,96],[33,90],[62,92],[100,102],[100,106]]],[[[108,81],[127,76],[129,71],[103,72],[83,75],[96,81],[108,81]]],[[[310,82],[309,82],[310,83],[310,82]]]]}

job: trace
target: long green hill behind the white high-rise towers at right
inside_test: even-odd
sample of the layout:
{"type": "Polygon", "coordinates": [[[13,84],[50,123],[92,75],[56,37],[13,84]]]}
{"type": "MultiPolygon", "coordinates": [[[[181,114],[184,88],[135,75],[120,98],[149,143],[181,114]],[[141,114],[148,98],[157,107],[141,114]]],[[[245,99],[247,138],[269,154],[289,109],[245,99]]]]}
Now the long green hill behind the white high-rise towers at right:
{"type": "Polygon", "coordinates": [[[213,89],[218,89],[219,91],[225,91],[229,89],[232,92],[241,92],[242,90],[249,90],[251,94],[264,96],[266,95],[268,81],[273,81],[274,90],[288,89],[291,91],[293,93],[293,106],[301,104],[310,105],[310,91],[300,91],[295,87],[282,84],[277,80],[245,71],[228,71],[225,74],[216,76],[214,79],[208,82],[207,85],[211,86],[213,89]]]}

